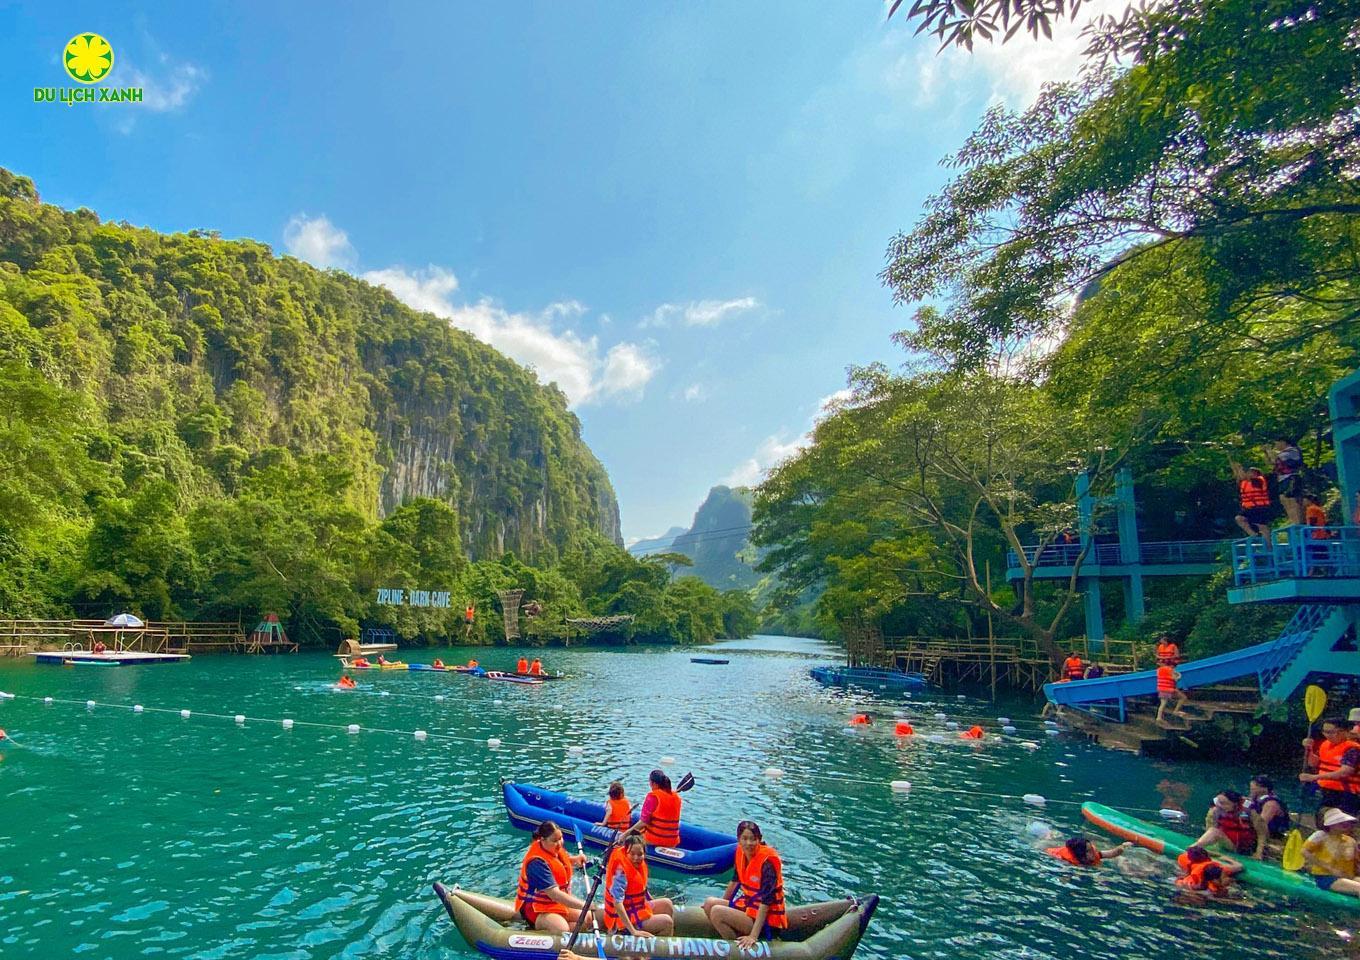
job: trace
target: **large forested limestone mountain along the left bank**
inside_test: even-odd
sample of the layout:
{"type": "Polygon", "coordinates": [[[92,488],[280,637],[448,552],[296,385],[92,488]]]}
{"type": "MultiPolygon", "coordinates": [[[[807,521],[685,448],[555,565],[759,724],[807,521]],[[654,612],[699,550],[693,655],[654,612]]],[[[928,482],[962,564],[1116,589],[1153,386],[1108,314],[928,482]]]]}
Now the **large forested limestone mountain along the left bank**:
{"type": "Polygon", "coordinates": [[[316,583],[340,562],[382,583],[418,572],[392,566],[416,528],[441,570],[622,543],[604,468],[532,371],[347,273],[61,209],[0,169],[0,616],[211,612],[226,570],[295,583],[290,551],[316,583]]]}

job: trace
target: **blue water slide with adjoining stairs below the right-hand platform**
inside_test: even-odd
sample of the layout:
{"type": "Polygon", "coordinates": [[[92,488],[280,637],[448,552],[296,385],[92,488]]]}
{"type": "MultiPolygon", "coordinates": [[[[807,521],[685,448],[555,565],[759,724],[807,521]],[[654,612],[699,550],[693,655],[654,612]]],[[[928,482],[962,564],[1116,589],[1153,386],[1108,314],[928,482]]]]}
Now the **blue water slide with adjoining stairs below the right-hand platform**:
{"type": "MultiPolygon", "coordinates": [[[[1300,606],[1273,640],[1232,653],[1180,664],[1180,689],[1250,680],[1259,699],[1282,700],[1311,673],[1356,673],[1350,608],[1329,604],[1300,606]]],[[[1074,707],[1121,723],[1129,719],[1129,700],[1156,698],[1157,672],[1140,670],[1099,680],[1044,684],[1044,696],[1061,707],[1074,707]]]]}

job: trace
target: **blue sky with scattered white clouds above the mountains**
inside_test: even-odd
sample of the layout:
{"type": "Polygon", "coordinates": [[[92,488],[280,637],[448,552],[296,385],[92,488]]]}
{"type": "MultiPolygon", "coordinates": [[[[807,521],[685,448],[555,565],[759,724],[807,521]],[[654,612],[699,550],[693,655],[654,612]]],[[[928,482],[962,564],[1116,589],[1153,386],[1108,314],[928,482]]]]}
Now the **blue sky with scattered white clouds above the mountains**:
{"type": "Polygon", "coordinates": [[[636,538],[796,450],[847,366],[900,362],[888,239],[986,106],[1081,46],[911,34],[874,0],[0,3],[0,165],[348,269],[532,364],[636,538]],[[144,103],[33,102],[80,31],[144,103]]]}

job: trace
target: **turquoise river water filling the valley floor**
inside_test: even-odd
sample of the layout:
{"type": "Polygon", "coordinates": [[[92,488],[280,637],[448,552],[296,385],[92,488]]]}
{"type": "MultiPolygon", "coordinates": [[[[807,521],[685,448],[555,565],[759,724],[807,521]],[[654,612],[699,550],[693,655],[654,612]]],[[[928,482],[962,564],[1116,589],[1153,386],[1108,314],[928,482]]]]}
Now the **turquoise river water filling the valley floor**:
{"type": "MultiPolygon", "coordinates": [[[[823,689],[808,668],[832,651],[812,640],[702,653],[714,650],[732,664],[691,664],[691,650],[549,650],[548,666],[574,679],[526,688],[370,670],[348,693],[332,689],[339,673],[321,654],[5,662],[0,691],[16,696],[0,700],[14,738],[0,748],[0,957],[477,956],[430,882],[513,889],[528,834],[509,825],[499,778],[598,797],[617,776],[639,800],[662,756],[675,778],[698,779],[688,820],[764,827],[790,900],[883,896],[857,957],[1355,956],[1356,915],[1269,899],[1194,908],[1149,854],[1078,873],[1031,835],[1034,821],[1081,829],[1076,802],[1089,798],[1153,819],[1179,802],[1198,820],[1219,786],[1250,771],[1049,738],[1028,700],[823,689]],[[889,721],[906,708],[926,736],[898,740],[891,722],[850,734],[855,707],[889,721]],[[1009,714],[1020,733],[967,744],[936,713],[993,732],[1009,714]],[[490,749],[490,737],[503,744],[490,749]],[[895,779],[910,793],[889,790],[895,779]]],[[[491,668],[515,657],[476,653],[491,668]]],[[[722,882],[656,872],[653,892],[698,903],[722,882]]]]}

